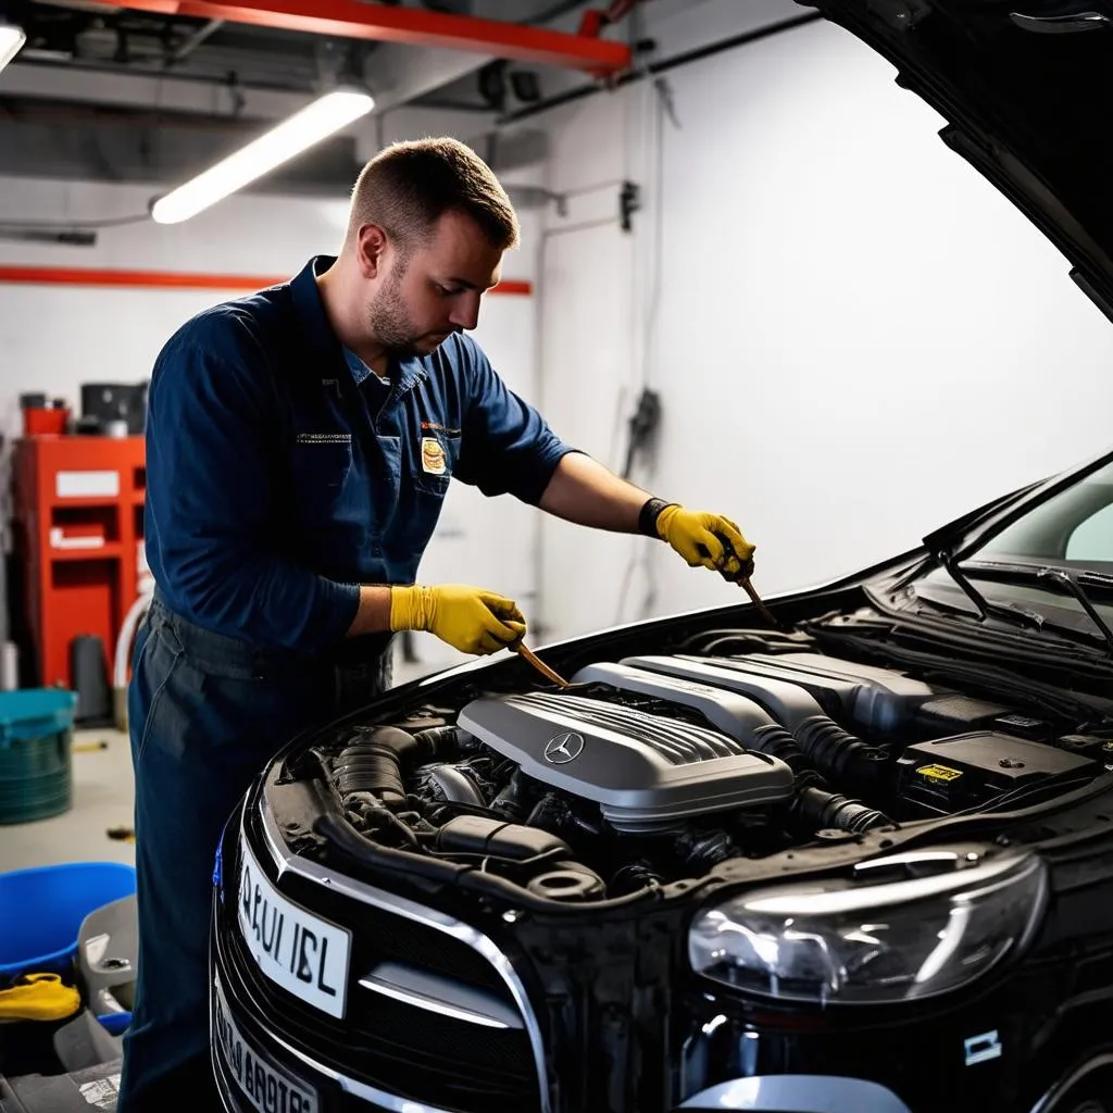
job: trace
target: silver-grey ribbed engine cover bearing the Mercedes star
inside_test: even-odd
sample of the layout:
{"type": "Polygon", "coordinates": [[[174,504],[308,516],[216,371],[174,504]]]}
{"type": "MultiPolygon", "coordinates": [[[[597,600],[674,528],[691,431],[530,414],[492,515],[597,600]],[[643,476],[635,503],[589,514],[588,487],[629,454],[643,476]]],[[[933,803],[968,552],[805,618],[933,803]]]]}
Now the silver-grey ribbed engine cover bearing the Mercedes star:
{"type": "Polygon", "coordinates": [[[716,730],[555,692],[485,697],[460,726],[536,780],[592,800],[615,830],[652,831],[792,791],[778,758],[716,730]]]}

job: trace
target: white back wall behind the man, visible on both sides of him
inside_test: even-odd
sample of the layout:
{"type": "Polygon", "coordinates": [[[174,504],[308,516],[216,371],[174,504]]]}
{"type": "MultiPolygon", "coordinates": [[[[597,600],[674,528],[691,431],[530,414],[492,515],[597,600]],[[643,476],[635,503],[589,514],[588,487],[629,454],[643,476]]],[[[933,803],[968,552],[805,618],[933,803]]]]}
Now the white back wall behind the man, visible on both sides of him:
{"type": "MultiPolygon", "coordinates": [[[[130,216],[146,210],[150,194],[135,186],[0,179],[0,220],[130,216]]],[[[0,266],[289,276],[312,255],[338,248],[346,215],[346,199],[238,195],[181,225],[102,229],[88,249],[0,240],[0,266]]],[[[521,214],[523,243],[508,255],[505,278],[534,278],[536,223],[521,214]]],[[[0,432],[19,434],[21,393],[66,397],[77,412],[81,383],[148,378],[181,323],[233,296],[238,292],[0,284],[0,432]]],[[[532,296],[492,294],[475,337],[509,385],[536,401],[534,319],[532,296]]],[[[538,515],[528,508],[454,485],[421,574],[482,582],[530,608],[536,531],[538,515]]],[[[431,636],[420,636],[417,649],[429,664],[460,659],[431,636]]]]}

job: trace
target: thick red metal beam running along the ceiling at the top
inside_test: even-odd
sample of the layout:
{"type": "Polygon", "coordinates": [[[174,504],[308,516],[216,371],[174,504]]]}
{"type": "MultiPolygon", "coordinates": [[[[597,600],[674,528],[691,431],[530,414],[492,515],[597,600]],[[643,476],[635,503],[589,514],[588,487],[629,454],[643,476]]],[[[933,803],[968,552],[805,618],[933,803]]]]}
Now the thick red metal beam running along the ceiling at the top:
{"type": "MultiPolygon", "coordinates": [[[[106,7],[119,7],[109,4],[106,7]]],[[[511,61],[560,66],[598,77],[630,67],[630,48],[592,35],[569,35],[499,19],[452,16],[362,0],[125,0],[125,8],[158,16],[225,19],[309,35],[474,50],[511,61]]]]}

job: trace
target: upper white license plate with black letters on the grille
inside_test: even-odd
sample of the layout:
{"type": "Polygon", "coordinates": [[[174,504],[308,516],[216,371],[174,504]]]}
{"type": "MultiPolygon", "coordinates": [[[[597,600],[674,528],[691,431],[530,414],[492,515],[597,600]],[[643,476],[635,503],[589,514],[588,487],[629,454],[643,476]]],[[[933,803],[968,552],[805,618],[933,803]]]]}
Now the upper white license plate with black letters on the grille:
{"type": "Polygon", "coordinates": [[[287,900],[239,836],[239,930],[259,969],[276,985],[343,1017],[352,933],[287,900]]]}

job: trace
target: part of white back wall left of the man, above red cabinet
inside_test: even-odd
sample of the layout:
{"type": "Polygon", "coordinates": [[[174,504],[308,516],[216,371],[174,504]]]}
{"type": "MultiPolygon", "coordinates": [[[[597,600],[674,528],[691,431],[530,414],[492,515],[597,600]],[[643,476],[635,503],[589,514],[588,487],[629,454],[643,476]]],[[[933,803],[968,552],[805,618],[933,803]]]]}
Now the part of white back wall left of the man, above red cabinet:
{"type": "MultiPolygon", "coordinates": [[[[0,220],[85,220],[142,214],[141,186],[0,179],[0,220]]],[[[236,196],[179,225],[104,228],[91,248],[0,240],[0,265],[288,276],[335,250],[343,200],[236,196]]],[[[18,395],[46,391],[80,402],[80,384],[139,382],[194,313],[233,290],[0,285],[0,421],[20,427],[18,395]]]]}

